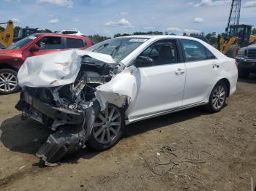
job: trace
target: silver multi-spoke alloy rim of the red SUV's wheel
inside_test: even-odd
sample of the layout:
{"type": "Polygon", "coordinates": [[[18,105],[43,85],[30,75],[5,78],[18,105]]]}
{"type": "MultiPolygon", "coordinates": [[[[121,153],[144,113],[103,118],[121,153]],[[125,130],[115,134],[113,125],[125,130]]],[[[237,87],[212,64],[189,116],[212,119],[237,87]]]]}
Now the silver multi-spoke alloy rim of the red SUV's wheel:
{"type": "Polygon", "coordinates": [[[0,74],[0,90],[3,93],[8,93],[18,85],[18,79],[14,74],[9,72],[4,72],[0,74]]]}

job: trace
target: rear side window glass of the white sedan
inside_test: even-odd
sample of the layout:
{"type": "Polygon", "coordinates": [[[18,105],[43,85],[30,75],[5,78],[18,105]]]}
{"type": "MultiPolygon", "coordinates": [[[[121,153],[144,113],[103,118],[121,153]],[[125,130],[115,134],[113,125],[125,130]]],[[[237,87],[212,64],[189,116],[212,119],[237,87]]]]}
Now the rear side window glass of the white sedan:
{"type": "Polygon", "coordinates": [[[204,47],[203,44],[200,44],[200,42],[181,39],[181,44],[187,62],[204,61],[215,58],[215,56],[204,47]]]}

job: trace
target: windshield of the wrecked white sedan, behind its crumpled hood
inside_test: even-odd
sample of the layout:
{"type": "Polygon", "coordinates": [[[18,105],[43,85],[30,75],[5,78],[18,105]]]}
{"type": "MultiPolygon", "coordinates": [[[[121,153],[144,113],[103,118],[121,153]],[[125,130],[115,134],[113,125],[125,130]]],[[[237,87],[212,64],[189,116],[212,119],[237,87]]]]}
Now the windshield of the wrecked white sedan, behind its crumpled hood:
{"type": "Polygon", "coordinates": [[[123,60],[129,53],[146,42],[146,38],[116,38],[108,39],[104,42],[99,42],[93,47],[89,47],[89,51],[99,52],[106,55],[111,55],[113,60],[119,62],[123,60]]]}

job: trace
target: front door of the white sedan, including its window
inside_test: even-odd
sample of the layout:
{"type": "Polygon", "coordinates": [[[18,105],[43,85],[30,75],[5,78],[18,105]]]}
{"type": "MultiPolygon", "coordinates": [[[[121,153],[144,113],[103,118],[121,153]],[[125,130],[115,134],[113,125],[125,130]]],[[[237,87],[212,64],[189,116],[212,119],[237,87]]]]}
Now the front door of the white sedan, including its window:
{"type": "Polygon", "coordinates": [[[129,119],[182,106],[186,71],[177,41],[159,40],[140,56],[153,58],[154,63],[137,66],[140,74],[138,95],[129,105],[129,119]]]}

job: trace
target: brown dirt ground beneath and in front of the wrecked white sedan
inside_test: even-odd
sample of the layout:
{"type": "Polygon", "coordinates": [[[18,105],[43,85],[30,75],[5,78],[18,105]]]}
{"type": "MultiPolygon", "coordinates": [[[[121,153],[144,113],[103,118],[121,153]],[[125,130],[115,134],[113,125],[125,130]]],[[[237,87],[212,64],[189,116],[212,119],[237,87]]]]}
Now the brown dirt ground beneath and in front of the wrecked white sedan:
{"type": "Polygon", "coordinates": [[[34,155],[50,130],[0,95],[0,190],[251,190],[256,182],[256,76],[217,114],[200,108],[128,125],[112,149],[83,149],[56,167],[34,155]]]}

